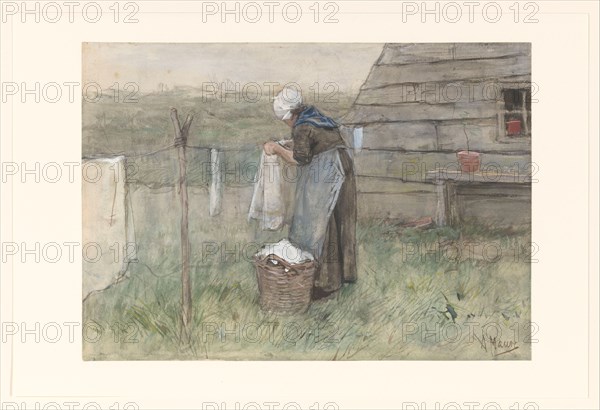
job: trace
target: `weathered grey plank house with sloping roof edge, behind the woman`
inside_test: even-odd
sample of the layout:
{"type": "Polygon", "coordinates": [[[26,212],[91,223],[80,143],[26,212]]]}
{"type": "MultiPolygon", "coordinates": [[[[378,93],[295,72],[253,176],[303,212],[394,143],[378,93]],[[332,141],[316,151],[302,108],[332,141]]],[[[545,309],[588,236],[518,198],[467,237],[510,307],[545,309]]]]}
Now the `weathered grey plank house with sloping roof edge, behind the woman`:
{"type": "Polygon", "coordinates": [[[359,216],[529,224],[532,90],[529,43],[386,44],[343,118],[359,216]]]}

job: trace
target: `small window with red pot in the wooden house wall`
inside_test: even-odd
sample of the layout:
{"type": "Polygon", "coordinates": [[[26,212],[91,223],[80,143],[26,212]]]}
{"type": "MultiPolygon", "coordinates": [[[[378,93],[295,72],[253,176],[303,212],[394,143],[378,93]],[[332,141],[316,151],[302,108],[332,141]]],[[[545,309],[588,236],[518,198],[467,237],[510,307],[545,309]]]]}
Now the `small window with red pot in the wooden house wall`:
{"type": "Polygon", "coordinates": [[[531,137],[531,88],[502,90],[500,128],[506,138],[531,137]]]}

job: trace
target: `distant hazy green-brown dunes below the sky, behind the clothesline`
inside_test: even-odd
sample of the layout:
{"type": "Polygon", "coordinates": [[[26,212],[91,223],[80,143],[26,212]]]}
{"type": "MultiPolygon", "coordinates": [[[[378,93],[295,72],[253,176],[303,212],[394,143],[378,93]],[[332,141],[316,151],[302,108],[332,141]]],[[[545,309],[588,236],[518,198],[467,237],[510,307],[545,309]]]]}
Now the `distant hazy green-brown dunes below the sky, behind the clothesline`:
{"type": "MultiPolygon", "coordinates": [[[[133,102],[115,102],[109,90],[95,102],[83,105],[83,156],[134,155],[152,152],[173,143],[170,107],[177,108],[181,122],[194,115],[188,145],[244,149],[270,139],[289,136],[289,128],[273,114],[266,98],[255,103],[239,98],[218,99],[202,95],[200,90],[175,89],[136,96],[133,102]]],[[[339,118],[354,101],[354,95],[338,93],[326,101],[307,104],[339,118]]]]}

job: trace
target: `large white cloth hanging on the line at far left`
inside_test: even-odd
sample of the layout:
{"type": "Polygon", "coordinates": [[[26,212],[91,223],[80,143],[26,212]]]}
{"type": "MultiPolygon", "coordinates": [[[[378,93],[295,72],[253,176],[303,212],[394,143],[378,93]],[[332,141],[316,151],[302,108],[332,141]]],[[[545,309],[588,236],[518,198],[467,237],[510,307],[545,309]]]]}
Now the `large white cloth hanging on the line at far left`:
{"type": "Polygon", "coordinates": [[[83,161],[83,299],[121,281],[136,259],[125,157],[83,161]]]}

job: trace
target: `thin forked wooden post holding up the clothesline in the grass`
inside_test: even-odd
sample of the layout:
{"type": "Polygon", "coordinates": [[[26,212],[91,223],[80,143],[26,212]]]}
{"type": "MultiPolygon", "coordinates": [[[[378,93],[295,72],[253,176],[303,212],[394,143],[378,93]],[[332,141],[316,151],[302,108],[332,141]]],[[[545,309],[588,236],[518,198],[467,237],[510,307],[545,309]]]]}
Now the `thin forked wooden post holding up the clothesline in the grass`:
{"type": "Polygon", "coordinates": [[[179,124],[177,110],[171,108],[171,121],[175,129],[175,146],[179,160],[179,196],[181,199],[181,340],[190,343],[192,324],[192,285],[190,280],[190,239],[188,235],[188,196],[185,146],[193,117],[188,115],[183,127],[179,124]]]}

